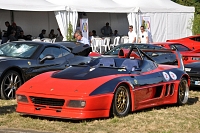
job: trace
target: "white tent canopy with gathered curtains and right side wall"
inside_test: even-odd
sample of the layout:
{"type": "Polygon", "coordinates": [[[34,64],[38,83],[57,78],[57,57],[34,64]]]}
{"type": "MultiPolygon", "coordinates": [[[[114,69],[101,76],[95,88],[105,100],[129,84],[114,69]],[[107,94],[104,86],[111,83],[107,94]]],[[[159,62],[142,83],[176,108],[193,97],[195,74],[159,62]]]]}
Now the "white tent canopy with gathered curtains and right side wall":
{"type": "Polygon", "coordinates": [[[129,25],[133,25],[137,32],[142,17],[149,17],[154,41],[191,35],[191,20],[194,17],[194,7],[182,6],[171,0],[0,0],[0,9],[55,11],[64,37],[69,21],[75,30],[78,12],[127,13],[129,25]]]}

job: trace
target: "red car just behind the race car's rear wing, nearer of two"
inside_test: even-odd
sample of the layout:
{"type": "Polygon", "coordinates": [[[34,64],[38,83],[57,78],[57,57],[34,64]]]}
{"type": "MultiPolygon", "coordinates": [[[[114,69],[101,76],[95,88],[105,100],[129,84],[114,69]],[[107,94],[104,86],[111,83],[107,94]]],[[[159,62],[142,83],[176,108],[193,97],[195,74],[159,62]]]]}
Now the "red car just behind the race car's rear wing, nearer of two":
{"type": "Polygon", "coordinates": [[[184,64],[200,61],[200,49],[191,49],[178,42],[157,42],[153,44],[165,47],[167,49],[174,49],[179,51],[182,55],[184,64]]]}

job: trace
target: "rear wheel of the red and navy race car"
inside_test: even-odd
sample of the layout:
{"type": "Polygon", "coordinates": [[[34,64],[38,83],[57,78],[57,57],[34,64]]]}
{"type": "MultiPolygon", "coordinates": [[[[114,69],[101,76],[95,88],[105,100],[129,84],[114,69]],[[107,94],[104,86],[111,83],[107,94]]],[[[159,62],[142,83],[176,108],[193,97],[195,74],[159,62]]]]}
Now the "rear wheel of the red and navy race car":
{"type": "Polygon", "coordinates": [[[182,78],[178,86],[177,105],[181,106],[188,102],[189,86],[185,78],[182,78]]]}

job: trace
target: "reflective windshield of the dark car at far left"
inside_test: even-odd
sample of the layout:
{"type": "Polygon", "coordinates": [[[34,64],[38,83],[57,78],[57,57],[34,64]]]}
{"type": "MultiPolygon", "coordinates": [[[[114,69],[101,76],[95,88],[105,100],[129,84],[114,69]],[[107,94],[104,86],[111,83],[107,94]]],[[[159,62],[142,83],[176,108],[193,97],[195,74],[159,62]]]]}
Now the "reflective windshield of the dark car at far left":
{"type": "Polygon", "coordinates": [[[30,58],[38,48],[38,44],[6,43],[0,46],[0,56],[30,58]]]}

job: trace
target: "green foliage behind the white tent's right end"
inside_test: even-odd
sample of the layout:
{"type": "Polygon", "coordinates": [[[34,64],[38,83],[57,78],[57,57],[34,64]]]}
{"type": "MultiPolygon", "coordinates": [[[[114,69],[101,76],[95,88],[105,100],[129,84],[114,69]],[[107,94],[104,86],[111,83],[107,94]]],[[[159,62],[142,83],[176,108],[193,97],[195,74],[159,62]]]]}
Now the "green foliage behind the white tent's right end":
{"type": "Polygon", "coordinates": [[[184,6],[194,6],[195,14],[194,18],[191,20],[190,24],[192,24],[192,33],[200,34],[200,0],[172,0],[178,4],[184,6]]]}

